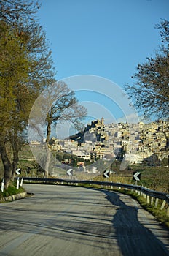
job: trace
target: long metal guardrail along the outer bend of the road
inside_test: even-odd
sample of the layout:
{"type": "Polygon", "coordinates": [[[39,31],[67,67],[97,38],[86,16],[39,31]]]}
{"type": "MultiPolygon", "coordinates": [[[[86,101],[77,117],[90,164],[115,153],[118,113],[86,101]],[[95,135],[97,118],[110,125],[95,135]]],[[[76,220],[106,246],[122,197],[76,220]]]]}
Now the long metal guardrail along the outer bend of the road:
{"type": "Polygon", "coordinates": [[[154,191],[151,189],[146,189],[145,187],[137,186],[137,185],[132,185],[132,184],[122,184],[122,183],[114,183],[114,182],[109,182],[109,181],[90,181],[90,180],[71,180],[71,179],[61,179],[61,178],[31,178],[31,177],[23,177],[23,181],[38,181],[38,182],[43,182],[43,183],[67,183],[67,184],[91,184],[91,185],[101,185],[101,186],[112,186],[112,187],[122,187],[125,189],[132,189],[132,190],[137,190],[145,195],[148,195],[149,197],[154,197],[158,198],[161,200],[165,200],[166,203],[169,204],[169,194],[163,193],[163,192],[158,192],[154,191]]]}

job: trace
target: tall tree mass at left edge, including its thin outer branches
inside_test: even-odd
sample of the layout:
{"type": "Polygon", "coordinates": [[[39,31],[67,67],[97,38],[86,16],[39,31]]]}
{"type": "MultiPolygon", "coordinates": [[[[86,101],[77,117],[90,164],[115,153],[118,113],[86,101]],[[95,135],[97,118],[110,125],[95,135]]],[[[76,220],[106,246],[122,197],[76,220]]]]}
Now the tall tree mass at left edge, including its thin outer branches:
{"type": "Polygon", "coordinates": [[[0,154],[6,188],[15,175],[34,99],[55,81],[52,53],[34,16],[38,9],[34,1],[0,1],[0,154]]]}

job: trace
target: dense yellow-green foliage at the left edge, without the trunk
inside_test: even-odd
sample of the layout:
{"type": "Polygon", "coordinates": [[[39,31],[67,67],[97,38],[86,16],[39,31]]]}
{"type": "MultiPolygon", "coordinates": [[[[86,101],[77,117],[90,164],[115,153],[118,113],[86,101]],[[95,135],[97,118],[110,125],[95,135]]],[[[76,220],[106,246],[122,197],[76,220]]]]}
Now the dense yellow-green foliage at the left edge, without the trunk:
{"type": "MultiPolygon", "coordinates": [[[[0,91],[1,91],[1,136],[16,125],[16,120],[25,118],[25,104],[28,100],[25,83],[28,78],[28,56],[20,48],[15,30],[0,22],[0,91]],[[6,129],[4,129],[6,127],[6,129]]],[[[17,123],[19,127],[19,123],[17,123]]],[[[21,127],[19,127],[21,129],[21,127]]]]}

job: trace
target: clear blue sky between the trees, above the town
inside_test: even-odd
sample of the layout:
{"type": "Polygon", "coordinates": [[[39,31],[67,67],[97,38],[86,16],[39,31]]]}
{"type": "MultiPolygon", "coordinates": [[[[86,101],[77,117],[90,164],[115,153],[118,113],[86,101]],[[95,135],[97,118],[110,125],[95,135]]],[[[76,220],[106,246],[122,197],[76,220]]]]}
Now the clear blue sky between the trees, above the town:
{"type": "MultiPolygon", "coordinates": [[[[155,24],[160,23],[160,18],[169,19],[168,0],[41,2],[39,23],[50,40],[57,80],[95,75],[123,88],[125,83],[133,82],[131,76],[138,63],[154,56],[160,45],[155,24]]],[[[80,102],[88,100],[104,105],[100,96],[95,95],[95,100],[91,99],[89,91],[85,94],[77,92],[76,95],[80,102]]],[[[101,118],[99,114],[98,118],[101,118]]],[[[88,115],[91,116],[90,113],[88,115]]],[[[115,118],[120,117],[122,113],[119,111],[115,118]]]]}

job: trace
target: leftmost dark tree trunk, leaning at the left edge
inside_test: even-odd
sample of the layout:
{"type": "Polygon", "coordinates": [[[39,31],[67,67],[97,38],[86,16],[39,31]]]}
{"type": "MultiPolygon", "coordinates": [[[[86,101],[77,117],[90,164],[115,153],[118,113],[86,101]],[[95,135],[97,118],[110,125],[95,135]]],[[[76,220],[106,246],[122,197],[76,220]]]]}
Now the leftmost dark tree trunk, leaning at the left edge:
{"type": "Polygon", "coordinates": [[[1,153],[1,159],[4,165],[4,189],[7,189],[9,186],[9,181],[12,176],[12,164],[9,161],[9,158],[7,156],[5,143],[1,143],[0,153],[1,153]]]}

